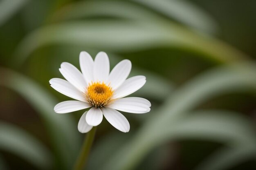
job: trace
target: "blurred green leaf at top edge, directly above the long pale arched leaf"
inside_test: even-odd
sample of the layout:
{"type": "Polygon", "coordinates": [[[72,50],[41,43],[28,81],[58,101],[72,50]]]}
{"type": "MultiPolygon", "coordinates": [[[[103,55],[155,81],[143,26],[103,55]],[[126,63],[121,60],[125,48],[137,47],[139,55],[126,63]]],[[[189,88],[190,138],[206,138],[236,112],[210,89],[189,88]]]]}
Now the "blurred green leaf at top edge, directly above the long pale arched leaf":
{"type": "Polygon", "coordinates": [[[52,21],[74,20],[101,15],[130,20],[150,20],[150,18],[156,17],[153,13],[128,1],[97,0],[68,4],[54,13],[52,21]]]}

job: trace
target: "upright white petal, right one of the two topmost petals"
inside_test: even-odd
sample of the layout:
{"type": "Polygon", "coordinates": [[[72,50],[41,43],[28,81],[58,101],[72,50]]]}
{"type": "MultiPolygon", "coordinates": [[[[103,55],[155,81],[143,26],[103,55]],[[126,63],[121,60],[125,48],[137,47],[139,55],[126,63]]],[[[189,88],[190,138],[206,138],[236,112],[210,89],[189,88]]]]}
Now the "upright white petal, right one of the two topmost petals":
{"type": "Polygon", "coordinates": [[[94,60],[94,81],[107,82],[109,75],[109,59],[105,52],[99,52],[94,60]]]}

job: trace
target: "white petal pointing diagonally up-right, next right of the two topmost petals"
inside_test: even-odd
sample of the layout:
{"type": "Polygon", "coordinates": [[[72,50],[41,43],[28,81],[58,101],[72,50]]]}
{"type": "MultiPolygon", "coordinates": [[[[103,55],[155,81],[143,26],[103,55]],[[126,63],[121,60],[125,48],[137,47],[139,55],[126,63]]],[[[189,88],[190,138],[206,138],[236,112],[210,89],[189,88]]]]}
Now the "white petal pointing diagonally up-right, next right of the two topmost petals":
{"type": "Polygon", "coordinates": [[[113,90],[117,89],[128,77],[132,68],[132,63],[130,60],[123,60],[119,62],[111,71],[107,84],[110,83],[110,86],[113,90]]]}

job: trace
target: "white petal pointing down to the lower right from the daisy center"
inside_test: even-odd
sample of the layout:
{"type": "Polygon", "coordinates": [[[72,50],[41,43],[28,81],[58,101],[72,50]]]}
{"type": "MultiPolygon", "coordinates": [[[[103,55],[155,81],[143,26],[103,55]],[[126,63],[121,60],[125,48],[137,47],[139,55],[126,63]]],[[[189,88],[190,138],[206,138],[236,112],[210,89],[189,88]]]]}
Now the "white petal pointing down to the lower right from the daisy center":
{"type": "Polygon", "coordinates": [[[122,132],[129,132],[130,124],[126,117],[124,117],[124,115],[122,115],[119,111],[107,107],[103,107],[101,110],[105,118],[110,124],[112,124],[112,126],[122,132]]]}

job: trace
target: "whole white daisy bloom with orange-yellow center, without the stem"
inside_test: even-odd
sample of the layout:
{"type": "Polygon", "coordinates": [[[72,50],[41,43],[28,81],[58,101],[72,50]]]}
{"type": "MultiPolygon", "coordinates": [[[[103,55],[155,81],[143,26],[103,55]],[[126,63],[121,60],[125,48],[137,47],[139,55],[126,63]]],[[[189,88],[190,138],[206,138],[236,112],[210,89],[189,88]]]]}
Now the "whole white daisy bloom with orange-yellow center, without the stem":
{"type": "Polygon", "coordinates": [[[93,61],[90,54],[82,51],[80,67],[82,73],[72,64],[63,62],[59,70],[66,80],[53,78],[49,81],[56,91],[76,99],[57,104],[54,107],[56,113],[90,108],[79,120],[79,132],[86,133],[93,126],[99,125],[103,115],[112,126],[122,132],[128,132],[130,124],[117,110],[128,113],[150,111],[151,104],[147,99],[126,97],[146,83],[146,77],[142,75],[126,79],[132,67],[130,60],[119,62],[110,72],[106,53],[99,52],[93,61]]]}

